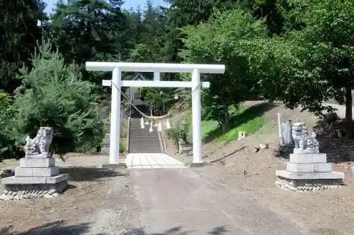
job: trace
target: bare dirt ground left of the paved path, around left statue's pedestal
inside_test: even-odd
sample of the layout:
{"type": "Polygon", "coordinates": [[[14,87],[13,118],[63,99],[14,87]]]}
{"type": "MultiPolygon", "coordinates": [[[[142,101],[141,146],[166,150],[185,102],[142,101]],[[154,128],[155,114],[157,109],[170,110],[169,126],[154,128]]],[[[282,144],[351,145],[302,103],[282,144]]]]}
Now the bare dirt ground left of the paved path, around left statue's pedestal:
{"type": "MultiPolygon", "coordinates": [[[[98,168],[107,163],[108,156],[100,155],[71,156],[66,162],[57,159],[60,173],[69,174],[69,189],[57,198],[0,200],[0,234],[84,234],[89,231],[98,208],[110,207],[105,198],[111,179],[118,177],[121,182],[127,181],[126,170],[98,168]]],[[[0,164],[1,169],[15,166],[18,161],[0,164]]]]}

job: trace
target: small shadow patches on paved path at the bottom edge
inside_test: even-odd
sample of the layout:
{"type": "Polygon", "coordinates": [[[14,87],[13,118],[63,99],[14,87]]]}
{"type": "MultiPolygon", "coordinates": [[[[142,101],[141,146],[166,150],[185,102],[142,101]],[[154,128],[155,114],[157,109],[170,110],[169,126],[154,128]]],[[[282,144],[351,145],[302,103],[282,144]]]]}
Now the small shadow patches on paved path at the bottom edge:
{"type": "MultiPolygon", "coordinates": [[[[225,234],[228,230],[224,226],[215,227],[212,231],[207,234],[210,235],[222,235],[225,234]]],[[[183,231],[182,227],[174,227],[168,229],[159,234],[147,234],[144,229],[133,229],[132,231],[126,232],[124,235],[189,235],[196,234],[195,231],[183,231]]],[[[17,234],[16,234],[17,235],[17,234]]]]}

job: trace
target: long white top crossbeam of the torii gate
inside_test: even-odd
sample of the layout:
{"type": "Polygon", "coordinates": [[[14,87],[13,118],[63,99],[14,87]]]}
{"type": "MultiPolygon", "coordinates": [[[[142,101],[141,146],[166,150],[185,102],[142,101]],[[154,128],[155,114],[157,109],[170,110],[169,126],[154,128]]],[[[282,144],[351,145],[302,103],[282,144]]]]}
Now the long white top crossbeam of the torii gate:
{"type": "Polygon", "coordinates": [[[161,73],[224,73],[221,64],[159,64],[159,63],[123,63],[123,62],[86,62],[87,71],[113,71],[120,68],[122,72],[161,72],[161,73]]]}

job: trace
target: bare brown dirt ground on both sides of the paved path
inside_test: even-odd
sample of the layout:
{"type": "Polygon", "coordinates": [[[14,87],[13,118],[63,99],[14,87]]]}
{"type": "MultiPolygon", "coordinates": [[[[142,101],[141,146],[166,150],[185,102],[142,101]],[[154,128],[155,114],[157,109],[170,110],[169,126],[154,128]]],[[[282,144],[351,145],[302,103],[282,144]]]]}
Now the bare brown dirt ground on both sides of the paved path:
{"type": "MultiPolygon", "coordinates": [[[[249,102],[249,104],[256,103],[249,102]]],[[[346,187],[304,193],[283,191],[275,187],[275,170],[285,169],[288,161],[282,157],[275,157],[275,150],[278,149],[278,112],[281,112],[285,119],[303,121],[308,127],[316,126],[318,121],[312,114],[287,110],[280,105],[275,105],[265,112],[267,125],[257,133],[247,136],[244,140],[236,140],[227,146],[215,143],[205,145],[203,158],[205,161],[215,161],[215,163],[194,170],[210,181],[237,189],[280,215],[290,216],[295,224],[303,227],[304,230],[312,231],[312,234],[354,234],[354,179],[351,174],[351,164],[346,162],[345,158],[339,157],[338,161],[333,161],[335,162],[333,170],[345,172],[346,187]],[[253,153],[259,143],[268,143],[270,148],[253,153]]],[[[167,145],[169,152],[174,152],[173,147],[167,145]]],[[[326,146],[324,150],[331,159],[336,159],[338,148],[341,148],[340,142],[338,145],[326,146]]],[[[190,156],[178,156],[178,158],[186,162],[191,159],[190,156]]],[[[65,163],[59,163],[62,172],[70,174],[71,185],[67,193],[59,198],[19,202],[0,201],[0,234],[9,235],[12,231],[16,231],[13,234],[22,235],[21,231],[46,223],[45,226],[48,227],[62,223],[68,226],[84,223],[88,220],[88,215],[92,214],[97,207],[108,206],[104,198],[110,179],[117,176],[127,177],[127,171],[96,168],[99,164],[107,162],[106,156],[78,156],[70,157],[65,163]],[[70,167],[77,165],[81,167],[70,167]]],[[[13,168],[16,165],[17,162],[6,162],[5,168],[13,168]]],[[[1,167],[4,168],[4,165],[1,167]]],[[[40,229],[51,234],[46,227],[40,229]]],[[[75,228],[70,231],[75,231],[75,228]]],[[[33,231],[30,234],[41,233],[33,231]]],[[[62,234],[68,233],[63,231],[62,234]]]]}

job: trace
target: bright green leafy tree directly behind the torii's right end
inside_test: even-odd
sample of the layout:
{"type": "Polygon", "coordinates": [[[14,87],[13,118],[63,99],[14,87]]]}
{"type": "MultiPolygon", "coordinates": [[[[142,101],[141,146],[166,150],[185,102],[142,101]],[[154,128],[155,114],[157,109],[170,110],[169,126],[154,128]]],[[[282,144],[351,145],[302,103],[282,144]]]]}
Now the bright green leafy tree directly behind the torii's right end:
{"type": "Polygon", "coordinates": [[[256,84],[248,61],[249,43],[265,37],[265,25],[241,9],[217,13],[207,23],[183,30],[186,49],[181,56],[186,62],[225,64],[223,75],[205,75],[210,88],[203,90],[205,119],[219,121],[224,131],[229,128],[229,107],[251,95],[256,84]]]}

